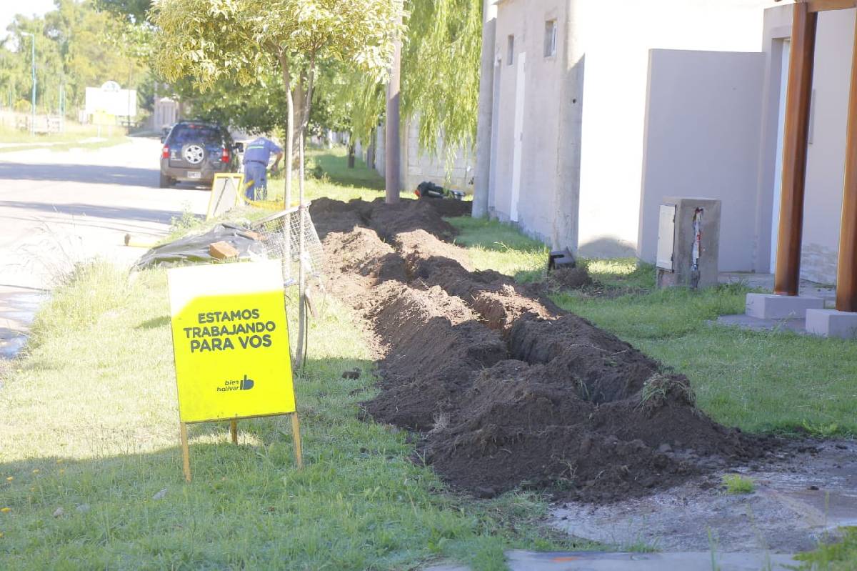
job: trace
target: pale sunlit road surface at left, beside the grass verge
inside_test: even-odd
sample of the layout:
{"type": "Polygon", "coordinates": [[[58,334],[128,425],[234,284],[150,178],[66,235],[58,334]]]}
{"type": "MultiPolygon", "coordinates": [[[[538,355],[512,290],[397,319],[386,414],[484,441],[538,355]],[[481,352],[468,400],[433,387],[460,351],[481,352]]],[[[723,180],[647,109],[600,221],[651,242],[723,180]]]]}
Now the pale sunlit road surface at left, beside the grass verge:
{"type": "Polygon", "coordinates": [[[0,153],[0,357],[13,352],[40,295],[76,262],[130,264],[171,219],[204,214],[208,191],[159,189],[160,143],[0,153]],[[4,348],[5,347],[5,348],[4,348]]]}

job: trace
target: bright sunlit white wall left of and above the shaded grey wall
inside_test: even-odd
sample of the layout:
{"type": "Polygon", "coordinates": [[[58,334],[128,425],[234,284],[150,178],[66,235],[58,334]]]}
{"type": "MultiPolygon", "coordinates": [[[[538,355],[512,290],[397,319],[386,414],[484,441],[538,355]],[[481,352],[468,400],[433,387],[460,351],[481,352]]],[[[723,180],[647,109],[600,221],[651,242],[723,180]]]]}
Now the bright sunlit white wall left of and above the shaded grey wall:
{"type": "Polygon", "coordinates": [[[585,2],[579,251],[638,253],[648,57],[652,49],[759,51],[773,0],[585,2]]]}

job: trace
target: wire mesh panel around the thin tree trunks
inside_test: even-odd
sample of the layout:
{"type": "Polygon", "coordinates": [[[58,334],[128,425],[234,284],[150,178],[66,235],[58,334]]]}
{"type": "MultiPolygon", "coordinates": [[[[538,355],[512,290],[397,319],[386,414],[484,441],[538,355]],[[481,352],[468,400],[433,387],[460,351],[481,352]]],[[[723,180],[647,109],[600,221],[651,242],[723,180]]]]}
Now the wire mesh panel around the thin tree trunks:
{"type": "Polygon", "coordinates": [[[309,205],[303,209],[293,207],[261,219],[253,225],[253,230],[259,234],[267,258],[285,260],[286,287],[297,284],[298,267],[302,261],[306,278],[321,280],[324,251],[309,216],[309,205]],[[302,236],[303,260],[300,255],[302,236]]]}

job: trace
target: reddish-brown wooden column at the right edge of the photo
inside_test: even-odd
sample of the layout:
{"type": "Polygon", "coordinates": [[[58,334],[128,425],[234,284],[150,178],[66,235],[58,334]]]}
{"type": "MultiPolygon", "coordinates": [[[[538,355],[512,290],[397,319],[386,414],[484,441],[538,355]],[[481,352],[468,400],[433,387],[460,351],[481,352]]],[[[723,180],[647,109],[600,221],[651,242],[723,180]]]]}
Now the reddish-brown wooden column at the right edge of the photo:
{"type": "Polygon", "coordinates": [[[848,97],[848,138],[845,143],[845,186],[842,189],[836,309],[857,311],[857,35],[854,36],[851,93],[848,97]]]}

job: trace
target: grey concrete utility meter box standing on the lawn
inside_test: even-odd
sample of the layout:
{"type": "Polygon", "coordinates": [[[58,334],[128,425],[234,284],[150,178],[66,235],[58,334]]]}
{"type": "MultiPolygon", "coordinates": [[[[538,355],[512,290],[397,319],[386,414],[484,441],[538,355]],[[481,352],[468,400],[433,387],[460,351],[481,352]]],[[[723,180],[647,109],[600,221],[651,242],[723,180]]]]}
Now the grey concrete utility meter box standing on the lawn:
{"type": "Polygon", "coordinates": [[[657,232],[658,287],[717,285],[720,201],[665,196],[657,232]]]}

